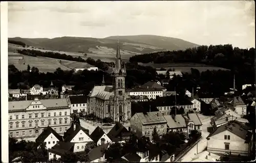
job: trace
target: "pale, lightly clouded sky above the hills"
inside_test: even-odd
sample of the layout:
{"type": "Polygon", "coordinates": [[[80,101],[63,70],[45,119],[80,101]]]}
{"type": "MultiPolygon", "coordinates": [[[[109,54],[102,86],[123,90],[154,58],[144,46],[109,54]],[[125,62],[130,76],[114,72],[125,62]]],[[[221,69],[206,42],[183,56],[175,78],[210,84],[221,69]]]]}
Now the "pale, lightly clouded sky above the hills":
{"type": "Polygon", "coordinates": [[[254,1],[8,2],[8,37],[174,37],[255,47],[254,1]]]}

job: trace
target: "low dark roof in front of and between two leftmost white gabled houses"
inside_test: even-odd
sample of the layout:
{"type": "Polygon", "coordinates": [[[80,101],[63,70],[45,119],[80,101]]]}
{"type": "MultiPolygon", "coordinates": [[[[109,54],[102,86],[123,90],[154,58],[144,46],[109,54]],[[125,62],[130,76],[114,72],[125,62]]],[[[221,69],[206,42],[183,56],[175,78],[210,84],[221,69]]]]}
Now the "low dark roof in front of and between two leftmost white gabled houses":
{"type": "Polygon", "coordinates": [[[63,155],[67,151],[72,151],[74,148],[75,143],[70,142],[58,142],[55,146],[53,146],[51,149],[49,149],[49,152],[57,154],[57,155],[63,155]]]}

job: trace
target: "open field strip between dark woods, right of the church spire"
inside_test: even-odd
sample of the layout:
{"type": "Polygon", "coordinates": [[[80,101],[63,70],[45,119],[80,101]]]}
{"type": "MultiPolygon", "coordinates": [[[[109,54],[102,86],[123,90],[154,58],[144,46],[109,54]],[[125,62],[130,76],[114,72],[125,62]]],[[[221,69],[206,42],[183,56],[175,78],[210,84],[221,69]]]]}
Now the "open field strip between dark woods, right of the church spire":
{"type": "Polygon", "coordinates": [[[156,69],[160,68],[165,68],[168,70],[169,68],[174,68],[176,71],[181,71],[181,72],[191,72],[191,68],[198,69],[200,72],[202,71],[207,71],[207,70],[228,70],[225,68],[221,67],[215,67],[215,66],[209,66],[205,64],[196,64],[196,63],[164,63],[164,64],[154,64],[154,63],[139,63],[140,65],[143,66],[151,66],[156,69]]]}

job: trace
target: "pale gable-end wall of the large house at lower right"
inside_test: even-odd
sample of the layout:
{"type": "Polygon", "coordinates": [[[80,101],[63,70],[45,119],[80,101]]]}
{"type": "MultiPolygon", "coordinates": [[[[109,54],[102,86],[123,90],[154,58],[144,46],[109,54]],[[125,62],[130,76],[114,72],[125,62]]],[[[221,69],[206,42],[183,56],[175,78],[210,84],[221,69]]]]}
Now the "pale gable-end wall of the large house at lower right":
{"type": "Polygon", "coordinates": [[[231,151],[231,155],[248,155],[248,144],[245,140],[238,137],[236,134],[225,130],[221,133],[213,135],[210,140],[207,140],[207,150],[212,153],[225,153],[231,151]],[[230,140],[225,140],[224,135],[230,135],[230,140]],[[229,144],[229,150],[225,150],[225,144],[229,144]]]}

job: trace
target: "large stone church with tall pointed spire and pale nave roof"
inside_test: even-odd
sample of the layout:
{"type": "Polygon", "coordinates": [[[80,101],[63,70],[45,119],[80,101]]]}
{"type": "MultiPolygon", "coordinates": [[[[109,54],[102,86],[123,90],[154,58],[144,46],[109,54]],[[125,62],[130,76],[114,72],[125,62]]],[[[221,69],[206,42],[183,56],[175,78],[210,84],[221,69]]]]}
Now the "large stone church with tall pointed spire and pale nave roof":
{"type": "Polygon", "coordinates": [[[122,65],[119,45],[117,43],[116,63],[112,68],[113,86],[95,86],[87,99],[89,114],[98,118],[110,117],[114,122],[127,122],[131,118],[131,100],[125,92],[125,64],[122,65]]]}

